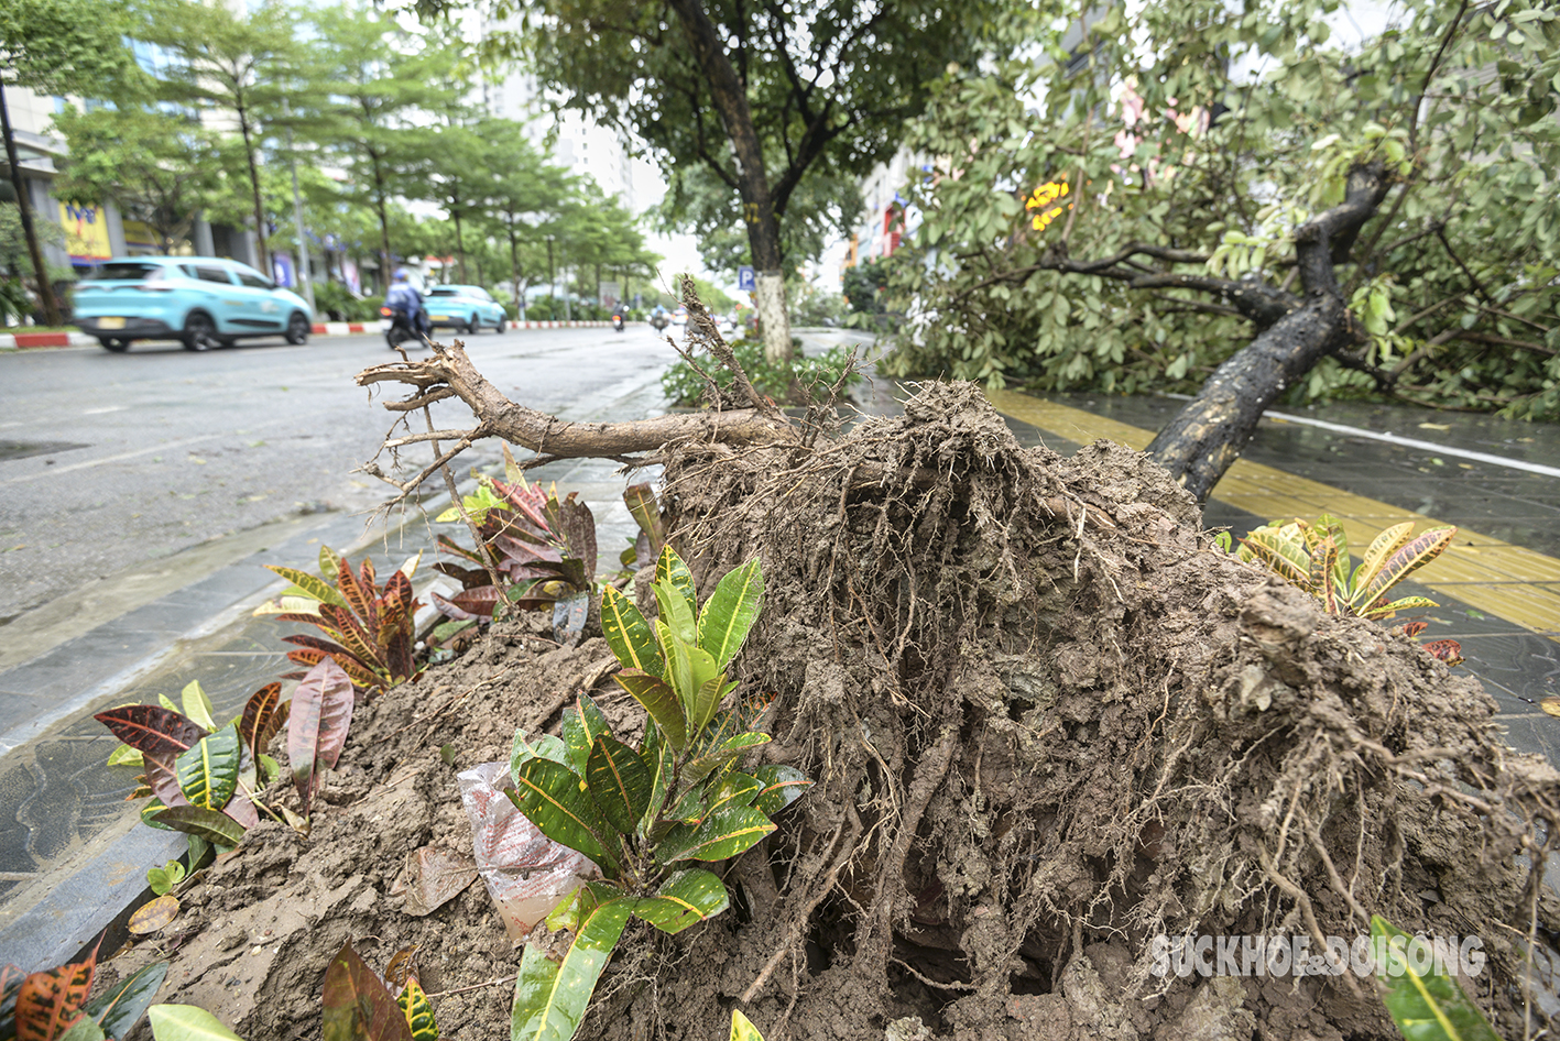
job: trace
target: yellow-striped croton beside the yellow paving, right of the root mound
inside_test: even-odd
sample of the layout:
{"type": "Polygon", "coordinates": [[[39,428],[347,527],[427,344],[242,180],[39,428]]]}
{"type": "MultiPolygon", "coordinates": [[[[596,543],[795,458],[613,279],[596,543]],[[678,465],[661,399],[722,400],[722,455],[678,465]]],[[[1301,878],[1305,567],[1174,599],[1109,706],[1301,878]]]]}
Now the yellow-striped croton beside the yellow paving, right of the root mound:
{"type": "Polygon", "coordinates": [[[1328,614],[1390,619],[1409,608],[1434,608],[1434,600],[1387,592],[1441,555],[1457,528],[1431,528],[1413,536],[1413,522],[1395,524],[1377,535],[1359,567],[1349,570],[1349,541],[1337,517],[1321,514],[1306,522],[1271,520],[1240,539],[1239,556],[1256,561],[1321,600],[1328,614]]]}

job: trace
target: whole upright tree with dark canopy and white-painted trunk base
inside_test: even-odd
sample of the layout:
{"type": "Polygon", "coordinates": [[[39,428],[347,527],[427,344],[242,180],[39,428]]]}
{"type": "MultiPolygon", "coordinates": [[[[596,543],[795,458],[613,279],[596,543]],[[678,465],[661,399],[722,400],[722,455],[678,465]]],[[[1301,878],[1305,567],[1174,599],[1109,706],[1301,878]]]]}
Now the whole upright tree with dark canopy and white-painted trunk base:
{"type": "MultiPolygon", "coordinates": [[[[415,0],[448,14],[473,0],[415,0]]],[[[791,355],[780,226],[803,179],[866,175],[900,145],[924,84],[983,50],[1002,0],[496,0],[523,53],[562,104],[632,131],[672,178],[710,170],[729,192],[758,270],[764,351],[791,355]]]]}

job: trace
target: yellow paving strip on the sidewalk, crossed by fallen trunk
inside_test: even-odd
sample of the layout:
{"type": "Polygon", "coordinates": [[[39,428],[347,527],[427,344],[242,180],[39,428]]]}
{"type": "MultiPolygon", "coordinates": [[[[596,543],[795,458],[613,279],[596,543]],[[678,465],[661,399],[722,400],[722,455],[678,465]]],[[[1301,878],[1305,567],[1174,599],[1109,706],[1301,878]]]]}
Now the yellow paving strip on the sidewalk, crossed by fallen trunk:
{"type": "MultiPolygon", "coordinates": [[[[986,391],[986,397],[1006,416],[1081,444],[1108,438],[1142,452],[1154,436],[1142,427],[1016,391],[986,391]]],[[[1331,513],[1343,522],[1356,556],[1382,528],[1404,520],[1413,520],[1416,531],[1449,527],[1434,517],[1248,460],[1237,460],[1225,472],[1214,486],[1212,499],[1270,520],[1310,520],[1331,513]]],[[[1560,639],[1560,586],[1549,584],[1560,583],[1560,561],[1552,556],[1459,528],[1452,545],[1416,570],[1413,581],[1533,633],[1560,639]]]]}

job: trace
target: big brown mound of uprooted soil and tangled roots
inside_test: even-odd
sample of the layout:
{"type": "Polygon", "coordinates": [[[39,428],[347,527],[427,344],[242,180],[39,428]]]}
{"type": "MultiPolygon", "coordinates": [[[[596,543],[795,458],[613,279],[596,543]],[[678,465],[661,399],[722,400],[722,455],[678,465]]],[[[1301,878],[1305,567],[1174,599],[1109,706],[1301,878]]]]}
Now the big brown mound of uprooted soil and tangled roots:
{"type": "MultiPolygon", "coordinates": [[[[665,499],[700,588],[761,558],[733,675],[778,695],[763,757],[817,784],[724,868],[735,913],[630,929],[582,1036],[724,1038],[741,1007],[771,1039],[1392,1038],[1353,974],[1150,972],[1158,935],[1320,954],[1371,913],[1477,935],[1505,1036],[1527,980],[1552,990],[1560,776],[1474,679],[1214,550],[1143,457],[1020,449],[975,388],[928,385],[814,449],[683,443],[665,499]]],[[[462,991],[445,1036],[507,1036],[519,955],[480,885],[427,918],[393,888],[409,851],[470,849],[454,773],[516,725],[577,687],[630,715],[608,665],[498,626],[362,709],[312,838],[262,826],[192,898],[170,1000],[317,1036],[329,957],[373,937],[462,991]]]]}

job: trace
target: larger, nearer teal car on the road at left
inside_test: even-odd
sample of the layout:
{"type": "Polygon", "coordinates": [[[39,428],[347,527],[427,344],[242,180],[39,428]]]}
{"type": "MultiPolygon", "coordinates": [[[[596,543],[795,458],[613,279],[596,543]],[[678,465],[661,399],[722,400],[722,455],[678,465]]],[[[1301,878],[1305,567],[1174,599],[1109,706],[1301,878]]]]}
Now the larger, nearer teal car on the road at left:
{"type": "Polygon", "coordinates": [[[108,351],[136,340],[178,340],[186,351],[240,337],[307,343],[314,315],[301,296],[222,257],[115,257],[75,288],[75,324],[108,351]]]}

